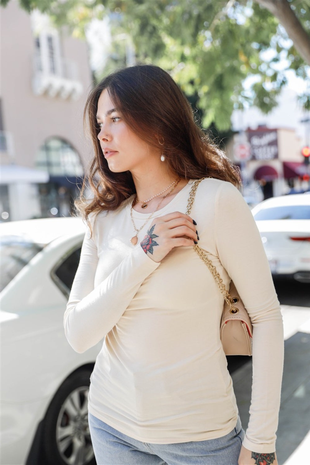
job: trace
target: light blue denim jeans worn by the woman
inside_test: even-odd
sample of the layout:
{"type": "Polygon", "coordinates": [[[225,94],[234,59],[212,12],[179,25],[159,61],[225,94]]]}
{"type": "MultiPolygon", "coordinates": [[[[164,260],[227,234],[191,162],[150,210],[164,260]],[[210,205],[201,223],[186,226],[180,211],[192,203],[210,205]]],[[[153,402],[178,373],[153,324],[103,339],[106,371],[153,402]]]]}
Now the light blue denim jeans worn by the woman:
{"type": "Polygon", "coordinates": [[[132,439],[88,414],[97,465],[237,465],[244,430],[206,441],[152,444],[132,439]]]}

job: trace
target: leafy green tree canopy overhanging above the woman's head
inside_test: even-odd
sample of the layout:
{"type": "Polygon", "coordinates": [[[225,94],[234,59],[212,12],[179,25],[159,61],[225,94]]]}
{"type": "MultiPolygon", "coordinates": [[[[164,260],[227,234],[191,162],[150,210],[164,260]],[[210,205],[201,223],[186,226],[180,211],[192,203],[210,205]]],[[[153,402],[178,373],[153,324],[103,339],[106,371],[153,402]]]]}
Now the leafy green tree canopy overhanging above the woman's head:
{"type": "MultiPolygon", "coordinates": [[[[19,1],[79,37],[92,18],[109,15],[113,37],[131,38],[136,60],[169,71],[196,102],[203,126],[222,131],[234,108],[254,104],[269,112],[285,70],[304,79],[309,73],[310,0],[19,1]]],[[[111,57],[109,71],[126,62],[118,40],[111,57]]],[[[310,109],[310,91],[302,103],[310,109]]]]}

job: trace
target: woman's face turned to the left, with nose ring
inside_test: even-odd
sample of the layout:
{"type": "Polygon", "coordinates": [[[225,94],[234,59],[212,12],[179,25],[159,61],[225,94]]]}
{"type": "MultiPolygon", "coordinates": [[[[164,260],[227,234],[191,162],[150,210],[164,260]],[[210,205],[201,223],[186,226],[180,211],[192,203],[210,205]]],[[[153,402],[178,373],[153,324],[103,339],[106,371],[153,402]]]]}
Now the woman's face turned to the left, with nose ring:
{"type": "Polygon", "coordinates": [[[128,170],[139,173],[141,169],[145,172],[160,160],[160,152],[140,139],[122,120],[106,89],[98,100],[97,121],[100,146],[114,173],[128,170]]]}

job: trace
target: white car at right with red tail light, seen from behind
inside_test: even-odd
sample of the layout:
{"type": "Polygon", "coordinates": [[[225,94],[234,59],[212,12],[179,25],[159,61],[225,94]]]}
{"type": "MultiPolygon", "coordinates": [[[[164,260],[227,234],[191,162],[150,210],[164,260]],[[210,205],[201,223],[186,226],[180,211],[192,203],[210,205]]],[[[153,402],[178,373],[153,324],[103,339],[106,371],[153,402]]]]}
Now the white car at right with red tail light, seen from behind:
{"type": "Polygon", "coordinates": [[[251,210],[274,278],[310,282],[310,195],[264,200],[251,210]]]}

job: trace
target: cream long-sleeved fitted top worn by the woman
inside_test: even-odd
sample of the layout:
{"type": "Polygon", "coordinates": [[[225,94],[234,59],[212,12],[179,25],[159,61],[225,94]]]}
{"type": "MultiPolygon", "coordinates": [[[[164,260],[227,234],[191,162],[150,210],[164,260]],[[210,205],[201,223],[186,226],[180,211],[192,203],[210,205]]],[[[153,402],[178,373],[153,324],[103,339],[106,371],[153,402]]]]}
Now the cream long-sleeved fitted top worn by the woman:
{"type": "MultiPolygon", "coordinates": [[[[185,213],[189,183],[154,217],[185,213]]],[[[224,436],[237,405],[219,336],[224,298],[191,246],[155,263],[130,244],[132,198],[92,219],[67,304],[66,337],[77,352],[103,339],[89,411],[149,443],[224,436]]],[[[149,213],[133,211],[139,228],[149,213]]],[[[270,268],[251,211],[229,182],[205,179],[191,217],[199,246],[224,284],[233,279],[253,324],[253,384],[244,446],[274,452],[283,367],[283,326],[270,268]]]]}

